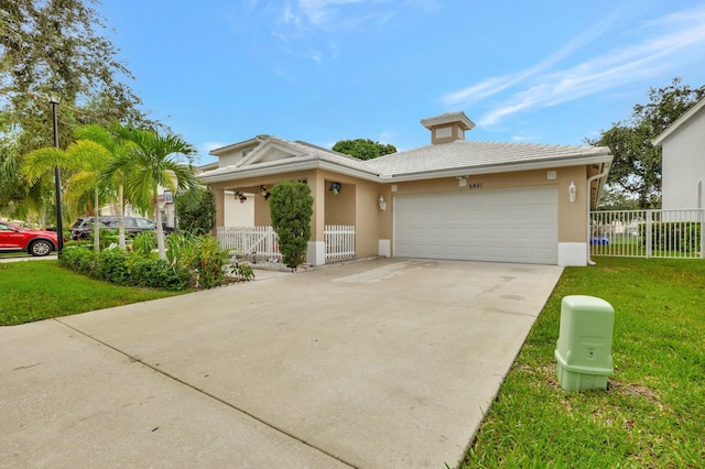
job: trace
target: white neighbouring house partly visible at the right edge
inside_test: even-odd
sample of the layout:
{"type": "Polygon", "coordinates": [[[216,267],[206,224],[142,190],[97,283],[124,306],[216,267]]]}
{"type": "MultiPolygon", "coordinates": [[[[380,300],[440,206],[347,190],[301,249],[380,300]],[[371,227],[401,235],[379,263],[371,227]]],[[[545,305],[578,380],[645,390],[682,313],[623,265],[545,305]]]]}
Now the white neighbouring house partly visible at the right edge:
{"type": "Polygon", "coordinates": [[[703,208],[705,181],[705,99],[653,140],[661,145],[664,210],[703,208]]]}

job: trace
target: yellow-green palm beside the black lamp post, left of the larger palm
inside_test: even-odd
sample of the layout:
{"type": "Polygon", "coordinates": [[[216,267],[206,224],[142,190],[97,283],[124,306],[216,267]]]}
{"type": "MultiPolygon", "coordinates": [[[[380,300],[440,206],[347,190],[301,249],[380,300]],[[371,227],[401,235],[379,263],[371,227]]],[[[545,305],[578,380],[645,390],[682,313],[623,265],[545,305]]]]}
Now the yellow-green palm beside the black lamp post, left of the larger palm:
{"type": "MultiPolygon", "coordinates": [[[[83,196],[86,193],[94,195],[93,206],[96,211],[94,249],[96,251],[100,249],[98,208],[100,207],[101,192],[97,176],[109,156],[110,154],[102,145],[88,140],[78,140],[68,145],[66,150],[44,148],[31,151],[24,156],[21,166],[22,174],[31,184],[34,184],[43,176],[45,177],[48,173],[53,172],[54,166],[68,170],[69,177],[66,184],[68,187],[66,199],[74,203],[75,211],[84,208],[79,207],[76,203],[84,199],[83,196]]],[[[63,236],[63,233],[58,234],[63,236]]]]}

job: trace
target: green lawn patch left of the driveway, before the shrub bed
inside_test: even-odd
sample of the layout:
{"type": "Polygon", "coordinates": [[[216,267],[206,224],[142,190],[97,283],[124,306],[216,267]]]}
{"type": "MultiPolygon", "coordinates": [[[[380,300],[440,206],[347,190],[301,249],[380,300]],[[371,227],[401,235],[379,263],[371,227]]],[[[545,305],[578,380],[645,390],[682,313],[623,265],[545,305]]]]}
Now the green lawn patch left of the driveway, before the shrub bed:
{"type": "Polygon", "coordinates": [[[185,293],[99,282],[61,269],[54,260],[0,263],[0,326],[185,293]]]}

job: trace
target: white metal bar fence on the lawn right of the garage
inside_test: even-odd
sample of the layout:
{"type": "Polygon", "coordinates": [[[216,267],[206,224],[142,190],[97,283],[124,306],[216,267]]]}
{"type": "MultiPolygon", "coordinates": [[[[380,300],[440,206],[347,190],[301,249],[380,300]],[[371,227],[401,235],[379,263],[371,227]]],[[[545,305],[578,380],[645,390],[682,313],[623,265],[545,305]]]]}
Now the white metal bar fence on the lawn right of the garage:
{"type": "Polygon", "coordinates": [[[703,259],[705,210],[590,212],[590,254],[703,259]]]}

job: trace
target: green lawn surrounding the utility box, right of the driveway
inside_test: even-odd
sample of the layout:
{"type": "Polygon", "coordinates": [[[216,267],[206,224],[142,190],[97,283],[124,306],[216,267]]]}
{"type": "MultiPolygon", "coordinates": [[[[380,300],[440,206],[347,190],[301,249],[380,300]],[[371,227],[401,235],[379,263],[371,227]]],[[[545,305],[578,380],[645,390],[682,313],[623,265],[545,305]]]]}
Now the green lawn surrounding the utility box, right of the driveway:
{"type": "Polygon", "coordinates": [[[565,269],[460,467],[705,467],[705,262],[596,260],[565,269]],[[607,391],[558,385],[566,295],[615,307],[607,391]]]}

